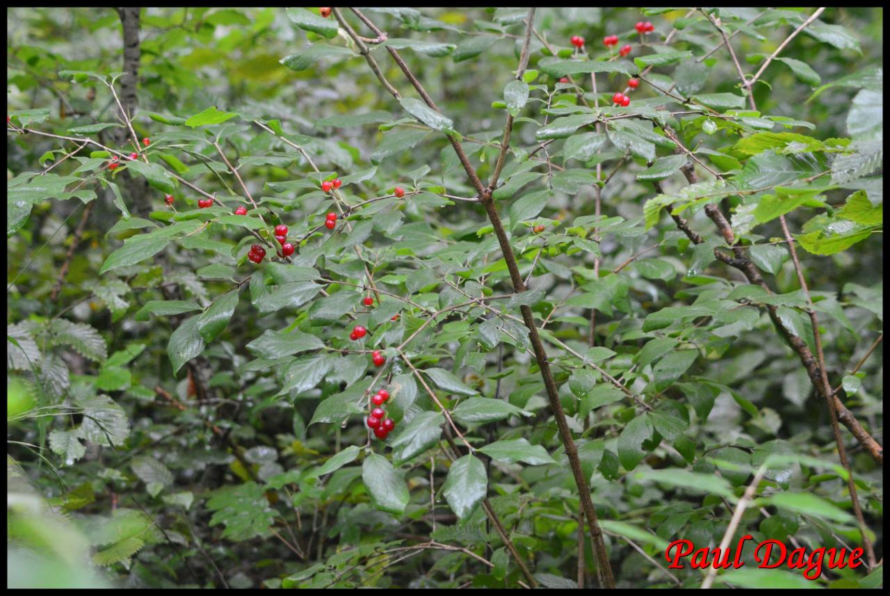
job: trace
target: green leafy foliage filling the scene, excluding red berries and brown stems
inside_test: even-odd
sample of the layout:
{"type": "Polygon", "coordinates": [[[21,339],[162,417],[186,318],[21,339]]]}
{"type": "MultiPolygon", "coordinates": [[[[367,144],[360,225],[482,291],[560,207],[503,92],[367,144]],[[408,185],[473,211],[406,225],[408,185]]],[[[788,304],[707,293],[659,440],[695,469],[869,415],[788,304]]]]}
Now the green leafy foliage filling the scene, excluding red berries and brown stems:
{"type": "MultiPolygon", "coordinates": [[[[539,585],[578,587],[581,553],[598,586],[522,304],[620,587],[700,585],[662,568],[665,546],[719,544],[765,463],[735,536],[861,545],[826,404],[765,305],[815,351],[785,215],[829,382],[883,444],[883,13],[823,12],[757,80],[756,111],[725,48],[703,58],[718,17],[750,77],[813,10],[541,8],[517,82],[526,9],[365,9],[440,114],[368,44],[393,99],[317,9],[142,9],[132,125],[150,145],[110,171],[106,148],[135,149],[111,92],[117,12],[8,9],[8,584],[528,584],[496,517],[539,585]],[[608,60],[609,34],[627,58],[608,60]],[[508,110],[494,199],[525,294],[448,136],[487,181],[508,110]],[[732,252],[705,205],[775,294],[716,260],[732,252]],[[279,222],[291,262],[248,262],[279,222]],[[384,387],[398,426],[379,441],[363,413],[384,387]]],[[[881,466],[840,432],[880,560],[881,466]]],[[[813,583],[744,559],[717,584],[882,584],[880,566],[813,583]]]]}

